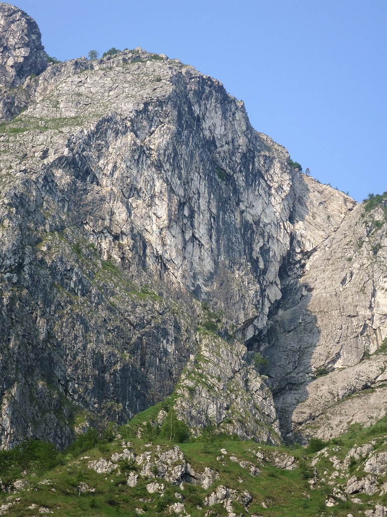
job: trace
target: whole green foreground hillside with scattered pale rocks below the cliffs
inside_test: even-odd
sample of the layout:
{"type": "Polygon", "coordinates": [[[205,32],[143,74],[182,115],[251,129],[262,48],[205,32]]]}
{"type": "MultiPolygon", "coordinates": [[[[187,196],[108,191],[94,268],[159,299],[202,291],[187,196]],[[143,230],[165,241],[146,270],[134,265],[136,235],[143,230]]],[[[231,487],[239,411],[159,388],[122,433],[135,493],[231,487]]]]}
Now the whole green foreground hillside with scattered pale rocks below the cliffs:
{"type": "Polygon", "coordinates": [[[111,424],[100,437],[90,429],[60,453],[37,440],[1,452],[0,511],[9,517],[384,515],[386,418],[364,429],[353,425],[328,443],[273,447],[211,428],[192,438],[170,412],[166,402],[128,424],[111,424]]]}

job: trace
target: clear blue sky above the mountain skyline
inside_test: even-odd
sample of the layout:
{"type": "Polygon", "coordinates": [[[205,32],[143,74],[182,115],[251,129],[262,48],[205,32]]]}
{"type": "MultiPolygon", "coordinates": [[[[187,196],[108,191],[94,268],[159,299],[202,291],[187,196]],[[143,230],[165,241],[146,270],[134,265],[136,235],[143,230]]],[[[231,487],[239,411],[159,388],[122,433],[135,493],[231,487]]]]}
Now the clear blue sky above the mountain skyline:
{"type": "Polygon", "coordinates": [[[386,0],[15,0],[65,60],[140,46],[245,101],[253,127],[357,201],[387,190],[386,0]]]}

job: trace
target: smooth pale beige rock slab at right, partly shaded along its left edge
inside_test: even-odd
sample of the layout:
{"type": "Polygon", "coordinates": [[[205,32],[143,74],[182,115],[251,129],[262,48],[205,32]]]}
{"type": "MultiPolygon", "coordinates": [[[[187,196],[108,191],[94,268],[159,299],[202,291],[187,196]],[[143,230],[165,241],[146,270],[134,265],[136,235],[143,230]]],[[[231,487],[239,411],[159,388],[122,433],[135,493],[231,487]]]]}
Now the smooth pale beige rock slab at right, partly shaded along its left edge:
{"type": "Polygon", "coordinates": [[[385,414],[385,389],[367,390],[387,381],[386,227],[383,208],[353,210],[268,324],[263,350],[285,435],[328,438],[385,414]]]}

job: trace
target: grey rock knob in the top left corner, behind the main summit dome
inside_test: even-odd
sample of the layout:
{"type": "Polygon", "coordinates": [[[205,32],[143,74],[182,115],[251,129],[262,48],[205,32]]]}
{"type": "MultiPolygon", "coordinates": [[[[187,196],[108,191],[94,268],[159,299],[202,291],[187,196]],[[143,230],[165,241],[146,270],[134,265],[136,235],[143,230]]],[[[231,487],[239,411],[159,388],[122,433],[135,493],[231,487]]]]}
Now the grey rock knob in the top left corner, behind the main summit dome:
{"type": "Polygon", "coordinates": [[[36,22],[18,7],[0,3],[0,84],[14,88],[46,68],[36,22]]]}

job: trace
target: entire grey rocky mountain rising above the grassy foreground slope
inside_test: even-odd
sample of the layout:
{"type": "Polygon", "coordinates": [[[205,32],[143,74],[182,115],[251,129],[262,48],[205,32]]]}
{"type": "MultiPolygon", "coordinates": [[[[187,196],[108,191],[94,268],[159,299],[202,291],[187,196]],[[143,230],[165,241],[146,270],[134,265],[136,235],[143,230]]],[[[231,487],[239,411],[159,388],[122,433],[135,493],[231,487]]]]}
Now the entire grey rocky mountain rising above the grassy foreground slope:
{"type": "Polygon", "coordinates": [[[385,200],[301,174],[178,59],[53,64],[10,4],[0,29],[1,447],[168,396],[268,444],[382,418],[385,200]]]}

